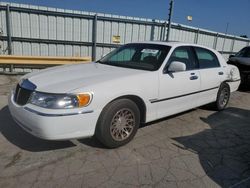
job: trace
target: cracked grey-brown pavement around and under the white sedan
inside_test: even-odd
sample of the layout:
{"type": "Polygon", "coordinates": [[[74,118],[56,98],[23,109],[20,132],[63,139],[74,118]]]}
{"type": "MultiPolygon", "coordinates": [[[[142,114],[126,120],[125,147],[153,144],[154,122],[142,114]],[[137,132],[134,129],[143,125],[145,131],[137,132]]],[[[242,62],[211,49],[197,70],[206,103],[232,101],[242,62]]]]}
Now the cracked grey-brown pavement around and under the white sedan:
{"type": "Polygon", "coordinates": [[[94,138],[24,132],[7,106],[16,79],[0,75],[0,187],[250,187],[250,89],[233,93],[222,112],[190,110],[105,149],[94,138]]]}

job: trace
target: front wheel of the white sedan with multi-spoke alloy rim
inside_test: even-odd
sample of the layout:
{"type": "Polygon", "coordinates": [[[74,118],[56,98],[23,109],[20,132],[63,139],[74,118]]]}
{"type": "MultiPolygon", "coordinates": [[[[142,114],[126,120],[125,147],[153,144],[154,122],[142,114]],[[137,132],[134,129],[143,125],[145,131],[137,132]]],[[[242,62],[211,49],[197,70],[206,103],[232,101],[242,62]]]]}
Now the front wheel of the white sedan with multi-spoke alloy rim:
{"type": "Polygon", "coordinates": [[[116,148],[133,139],[140,125],[140,111],[129,99],[109,103],[102,111],[95,136],[104,146],[116,148]]]}

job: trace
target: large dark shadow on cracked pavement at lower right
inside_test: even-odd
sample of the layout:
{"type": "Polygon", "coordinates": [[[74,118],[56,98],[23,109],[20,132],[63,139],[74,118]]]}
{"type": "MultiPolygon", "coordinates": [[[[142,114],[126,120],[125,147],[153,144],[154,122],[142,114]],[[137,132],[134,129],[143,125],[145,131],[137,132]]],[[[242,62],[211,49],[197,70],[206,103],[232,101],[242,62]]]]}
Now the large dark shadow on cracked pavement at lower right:
{"type": "Polygon", "coordinates": [[[207,118],[210,126],[194,135],[173,138],[195,152],[206,174],[222,187],[250,187],[250,111],[227,108],[207,118]]]}

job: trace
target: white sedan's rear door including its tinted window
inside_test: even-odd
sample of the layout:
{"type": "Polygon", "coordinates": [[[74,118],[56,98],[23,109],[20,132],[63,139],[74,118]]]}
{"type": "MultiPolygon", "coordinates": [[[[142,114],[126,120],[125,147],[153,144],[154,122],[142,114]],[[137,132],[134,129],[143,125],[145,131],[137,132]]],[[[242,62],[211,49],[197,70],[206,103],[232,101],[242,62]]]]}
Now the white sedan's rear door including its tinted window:
{"type": "Polygon", "coordinates": [[[194,47],[199,62],[201,91],[197,97],[199,105],[216,100],[220,84],[225,79],[225,71],[217,56],[210,50],[194,47]]]}

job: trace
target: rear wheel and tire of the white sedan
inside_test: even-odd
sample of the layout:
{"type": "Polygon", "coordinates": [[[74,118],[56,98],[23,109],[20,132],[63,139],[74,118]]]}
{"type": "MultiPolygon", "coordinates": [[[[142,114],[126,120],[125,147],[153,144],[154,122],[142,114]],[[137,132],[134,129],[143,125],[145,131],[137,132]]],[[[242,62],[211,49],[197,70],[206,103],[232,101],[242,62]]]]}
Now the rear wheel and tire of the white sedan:
{"type": "Polygon", "coordinates": [[[227,83],[222,83],[217,93],[217,98],[214,103],[215,109],[218,111],[224,110],[230,99],[230,87],[227,83]]]}

